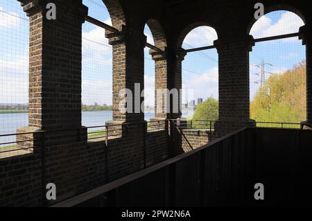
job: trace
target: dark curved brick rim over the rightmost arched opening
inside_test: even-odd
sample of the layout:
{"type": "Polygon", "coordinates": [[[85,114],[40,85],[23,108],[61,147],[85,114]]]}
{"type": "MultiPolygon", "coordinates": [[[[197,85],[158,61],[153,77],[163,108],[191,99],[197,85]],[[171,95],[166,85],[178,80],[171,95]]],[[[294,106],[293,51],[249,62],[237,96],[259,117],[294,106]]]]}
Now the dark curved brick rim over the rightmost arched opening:
{"type": "MultiPolygon", "coordinates": [[[[304,24],[306,24],[306,19],[303,15],[303,13],[298,10],[297,8],[294,8],[293,6],[288,6],[288,5],[273,5],[273,6],[265,6],[264,7],[264,15],[267,15],[268,13],[270,12],[275,12],[275,11],[278,11],[278,10],[286,10],[288,12],[293,12],[295,13],[295,15],[299,16],[302,21],[304,21],[304,24]]],[[[254,26],[254,24],[257,22],[256,19],[254,19],[253,17],[253,14],[252,14],[252,20],[250,21],[250,23],[248,24],[248,27],[247,27],[247,35],[250,34],[250,30],[252,29],[252,26],[254,26]]]]}

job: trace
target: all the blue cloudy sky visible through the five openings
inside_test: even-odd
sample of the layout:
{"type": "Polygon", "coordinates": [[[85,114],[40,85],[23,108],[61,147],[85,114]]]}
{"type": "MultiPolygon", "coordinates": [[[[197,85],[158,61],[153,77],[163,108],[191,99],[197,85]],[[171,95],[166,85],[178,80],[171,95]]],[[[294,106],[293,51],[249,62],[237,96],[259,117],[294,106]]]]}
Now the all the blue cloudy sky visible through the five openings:
{"type": "MultiPolygon", "coordinates": [[[[110,15],[100,0],[84,0],[89,16],[111,24],[110,15]]],[[[271,12],[259,19],[250,35],[254,38],[296,33],[304,23],[292,12],[271,12]]],[[[148,42],[153,44],[148,26],[144,29],[148,42]]],[[[198,27],[184,39],[183,48],[213,45],[218,35],[213,28],[198,27]]],[[[0,103],[28,102],[28,17],[19,2],[0,0],[0,103]],[[17,85],[17,86],[16,86],[17,85]]],[[[154,61],[144,50],[145,105],[155,103],[154,61]]],[[[259,88],[259,68],[262,60],[272,64],[271,73],[282,73],[305,59],[305,46],[297,37],[257,43],[250,52],[250,98],[259,88]]],[[[108,45],[105,30],[85,22],[83,24],[83,94],[84,104],[112,105],[112,46],[108,45]]],[[[198,98],[218,98],[218,53],[216,49],[187,54],[182,62],[182,87],[193,89],[182,103],[198,98]]]]}

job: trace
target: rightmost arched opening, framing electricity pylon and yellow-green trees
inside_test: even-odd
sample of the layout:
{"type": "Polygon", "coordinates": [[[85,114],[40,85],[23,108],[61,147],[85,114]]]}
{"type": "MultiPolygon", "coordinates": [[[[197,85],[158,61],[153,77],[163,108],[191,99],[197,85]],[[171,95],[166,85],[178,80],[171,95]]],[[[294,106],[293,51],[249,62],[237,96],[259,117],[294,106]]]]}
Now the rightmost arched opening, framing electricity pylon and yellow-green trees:
{"type": "Polygon", "coordinates": [[[298,37],[287,37],[301,26],[294,12],[276,10],[250,30],[256,42],[250,53],[250,118],[258,126],[300,127],[306,121],[306,47],[298,37]],[[266,37],[273,39],[257,41],[266,37]]]}

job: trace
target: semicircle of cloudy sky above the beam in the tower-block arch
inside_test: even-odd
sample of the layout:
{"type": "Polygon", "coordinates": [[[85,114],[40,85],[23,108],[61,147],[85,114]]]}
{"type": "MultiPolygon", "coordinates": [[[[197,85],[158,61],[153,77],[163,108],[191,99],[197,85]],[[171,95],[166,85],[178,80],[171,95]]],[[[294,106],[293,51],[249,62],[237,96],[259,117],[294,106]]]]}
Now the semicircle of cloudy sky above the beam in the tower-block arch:
{"type": "Polygon", "coordinates": [[[218,39],[218,35],[214,28],[208,26],[200,26],[194,28],[185,37],[183,48],[198,48],[202,46],[214,45],[214,40],[218,39]]]}

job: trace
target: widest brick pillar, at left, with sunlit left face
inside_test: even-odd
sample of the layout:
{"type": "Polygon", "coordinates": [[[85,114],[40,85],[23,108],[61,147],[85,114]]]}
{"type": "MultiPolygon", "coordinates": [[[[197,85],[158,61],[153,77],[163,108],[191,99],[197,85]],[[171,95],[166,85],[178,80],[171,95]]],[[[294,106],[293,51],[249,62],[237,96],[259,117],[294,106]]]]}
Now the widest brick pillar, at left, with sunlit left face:
{"type": "Polygon", "coordinates": [[[30,18],[29,127],[79,129],[81,37],[87,8],[82,0],[19,1],[30,18]],[[56,5],[55,20],[46,19],[49,2],[56,5]]]}

